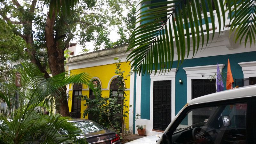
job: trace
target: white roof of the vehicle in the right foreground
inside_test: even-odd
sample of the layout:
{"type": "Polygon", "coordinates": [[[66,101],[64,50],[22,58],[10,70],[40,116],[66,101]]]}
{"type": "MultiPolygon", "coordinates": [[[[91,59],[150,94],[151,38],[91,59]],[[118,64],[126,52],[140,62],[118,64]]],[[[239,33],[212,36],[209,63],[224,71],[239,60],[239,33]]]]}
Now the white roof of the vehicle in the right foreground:
{"type": "Polygon", "coordinates": [[[187,103],[187,105],[221,101],[221,100],[230,100],[230,99],[237,99],[237,98],[245,98],[245,97],[252,97],[252,96],[256,96],[256,84],[201,96],[193,100],[190,100],[187,103]]]}

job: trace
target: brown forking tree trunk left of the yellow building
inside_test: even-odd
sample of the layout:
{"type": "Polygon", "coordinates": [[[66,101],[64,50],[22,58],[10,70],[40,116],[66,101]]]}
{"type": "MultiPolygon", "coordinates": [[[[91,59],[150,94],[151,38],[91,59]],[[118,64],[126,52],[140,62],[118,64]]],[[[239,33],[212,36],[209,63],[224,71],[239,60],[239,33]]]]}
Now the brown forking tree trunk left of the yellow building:
{"type": "MultiPolygon", "coordinates": [[[[17,10],[20,13],[25,13],[23,7],[19,4],[17,0],[12,0],[12,3],[18,8],[17,10]]],[[[29,14],[33,15],[35,14],[35,8],[36,8],[36,3],[37,0],[33,0],[32,4],[30,5],[29,9],[29,14]]],[[[26,11],[27,12],[27,11],[26,11]]],[[[5,16],[3,13],[1,13],[1,16],[5,18],[7,22],[12,23],[11,20],[7,16],[5,16]]],[[[54,29],[55,25],[55,11],[52,11],[52,17],[50,19],[49,12],[47,13],[47,18],[46,18],[46,25],[45,25],[45,41],[46,41],[46,48],[48,52],[48,62],[49,62],[49,67],[52,72],[52,75],[58,75],[60,73],[65,72],[64,68],[64,50],[65,50],[65,44],[68,44],[70,41],[70,38],[66,39],[66,42],[63,42],[58,38],[58,29],[54,29]],[[59,40],[58,40],[59,39],[59,40]]],[[[49,78],[49,74],[46,71],[45,67],[41,64],[40,59],[36,56],[36,47],[34,45],[34,37],[33,37],[33,29],[32,29],[32,22],[33,20],[31,19],[20,19],[20,24],[23,25],[23,33],[20,33],[18,30],[14,30],[14,33],[22,37],[26,43],[29,45],[28,47],[28,55],[29,59],[32,63],[34,63],[42,73],[44,73],[45,78],[49,78]]],[[[63,21],[65,22],[65,21],[63,21]]],[[[60,26],[63,26],[60,25],[60,26]]],[[[65,30],[65,28],[60,27],[65,30]]],[[[62,32],[64,33],[64,32],[62,32]]],[[[65,35],[62,34],[62,38],[64,38],[65,35]]],[[[66,87],[62,88],[61,91],[61,96],[56,95],[55,96],[55,103],[56,103],[56,110],[57,113],[60,113],[62,116],[69,116],[69,109],[68,109],[68,99],[66,95],[66,87]],[[64,91],[63,91],[64,90],[64,91]]]]}

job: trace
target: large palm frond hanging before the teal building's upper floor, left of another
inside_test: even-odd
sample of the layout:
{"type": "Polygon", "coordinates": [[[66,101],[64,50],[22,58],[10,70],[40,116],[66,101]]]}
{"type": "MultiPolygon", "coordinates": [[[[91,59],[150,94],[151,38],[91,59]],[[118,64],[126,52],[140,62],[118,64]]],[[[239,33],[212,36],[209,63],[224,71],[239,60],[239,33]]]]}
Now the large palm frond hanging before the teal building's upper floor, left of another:
{"type": "Polygon", "coordinates": [[[139,74],[152,73],[153,70],[156,74],[158,67],[160,72],[168,72],[172,68],[174,53],[178,55],[179,66],[188,57],[190,44],[193,44],[194,56],[199,45],[203,48],[211,42],[210,30],[214,36],[218,26],[220,34],[221,23],[215,26],[215,19],[220,20],[223,14],[219,3],[217,0],[213,3],[195,0],[141,1],[137,15],[140,25],[127,49],[133,49],[127,57],[131,60],[132,69],[136,67],[139,74]],[[212,6],[218,8],[215,10],[212,6]]]}

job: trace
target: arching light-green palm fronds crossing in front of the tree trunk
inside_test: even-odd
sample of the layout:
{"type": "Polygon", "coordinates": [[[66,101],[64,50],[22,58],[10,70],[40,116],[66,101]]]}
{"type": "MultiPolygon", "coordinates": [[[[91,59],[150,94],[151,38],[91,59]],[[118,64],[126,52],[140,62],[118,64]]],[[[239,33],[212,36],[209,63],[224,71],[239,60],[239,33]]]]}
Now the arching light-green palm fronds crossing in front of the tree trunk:
{"type": "Polygon", "coordinates": [[[68,84],[81,83],[88,85],[93,91],[98,91],[98,89],[93,88],[91,76],[87,73],[70,76],[70,73],[64,72],[46,79],[35,65],[22,63],[22,66],[23,69],[20,69],[20,74],[23,81],[28,85],[28,91],[24,94],[16,87],[14,89],[21,97],[29,100],[28,102],[31,104],[28,105],[32,109],[42,102],[46,105],[52,104],[56,96],[61,96],[62,87],[68,84]]]}

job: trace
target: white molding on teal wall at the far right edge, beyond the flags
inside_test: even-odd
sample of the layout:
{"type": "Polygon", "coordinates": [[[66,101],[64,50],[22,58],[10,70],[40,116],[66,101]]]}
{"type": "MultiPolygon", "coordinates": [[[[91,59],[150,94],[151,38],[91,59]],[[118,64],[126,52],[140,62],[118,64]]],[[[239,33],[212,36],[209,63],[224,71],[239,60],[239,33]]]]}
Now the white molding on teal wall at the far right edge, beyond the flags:
{"type": "Polygon", "coordinates": [[[256,76],[256,61],[239,62],[244,73],[244,78],[256,76]]]}

